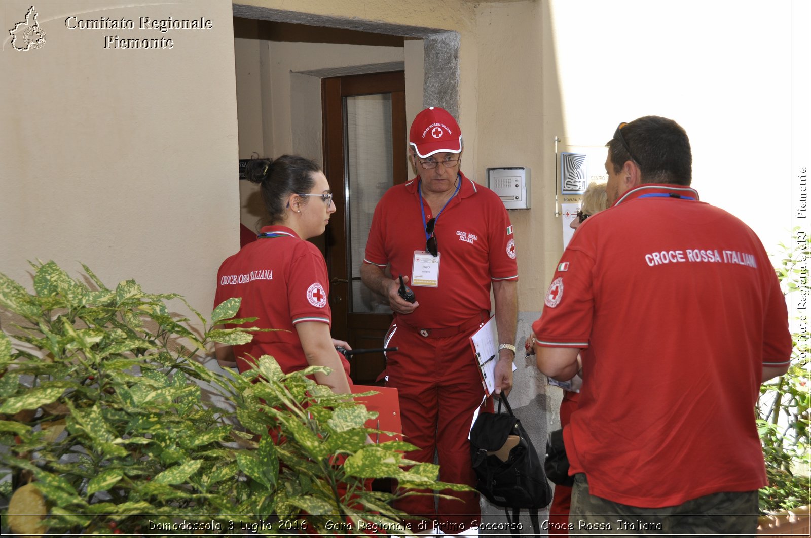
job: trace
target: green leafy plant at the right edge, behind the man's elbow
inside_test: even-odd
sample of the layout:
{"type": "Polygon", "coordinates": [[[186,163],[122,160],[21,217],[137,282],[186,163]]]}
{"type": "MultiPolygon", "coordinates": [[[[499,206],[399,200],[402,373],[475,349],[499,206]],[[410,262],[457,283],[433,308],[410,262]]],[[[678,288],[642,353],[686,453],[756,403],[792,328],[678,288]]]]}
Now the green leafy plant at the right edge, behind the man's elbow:
{"type": "Polygon", "coordinates": [[[791,246],[780,245],[782,253],[776,267],[783,292],[796,307],[792,321],[792,366],[786,374],[761,386],[757,402],[757,429],[769,478],[769,485],[760,490],[760,507],[764,512],[811,504],[811,374],[809,320],[805,314],[811,251],[809,239],[800,228],[794,229],[792,241],[791,246]]]}

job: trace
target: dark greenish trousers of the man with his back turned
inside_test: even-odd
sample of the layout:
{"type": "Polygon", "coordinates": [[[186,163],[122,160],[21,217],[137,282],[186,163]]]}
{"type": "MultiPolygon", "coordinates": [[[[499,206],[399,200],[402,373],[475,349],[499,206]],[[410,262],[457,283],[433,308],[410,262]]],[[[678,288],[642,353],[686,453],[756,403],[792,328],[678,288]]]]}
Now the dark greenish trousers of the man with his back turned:
{"type": "Polygon", "coordinates": [[[637,508],[589,493],[586,475],[574,476],[569,536],[754,536],[757,491],[712,493],[679,506],[637,508]]]}

